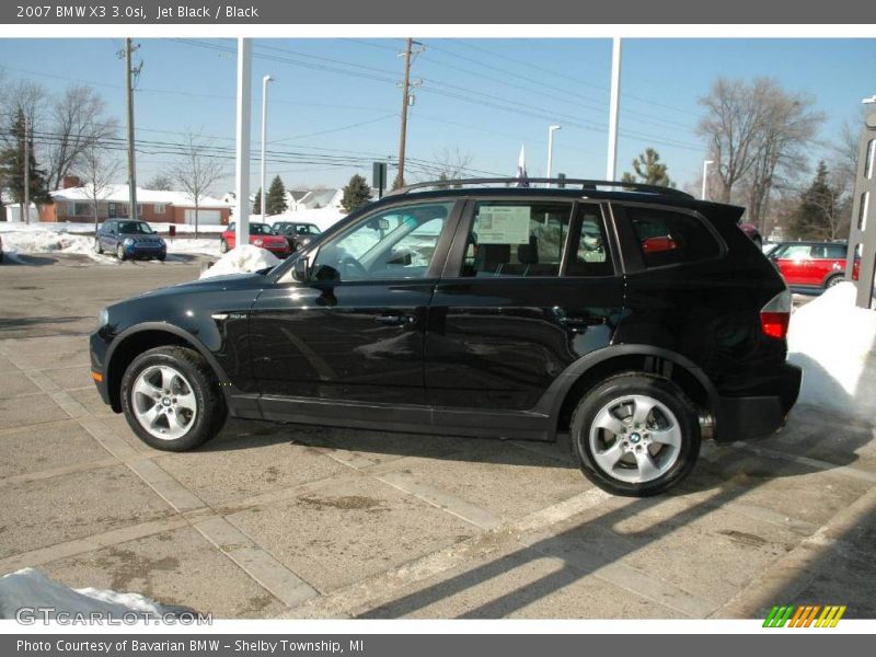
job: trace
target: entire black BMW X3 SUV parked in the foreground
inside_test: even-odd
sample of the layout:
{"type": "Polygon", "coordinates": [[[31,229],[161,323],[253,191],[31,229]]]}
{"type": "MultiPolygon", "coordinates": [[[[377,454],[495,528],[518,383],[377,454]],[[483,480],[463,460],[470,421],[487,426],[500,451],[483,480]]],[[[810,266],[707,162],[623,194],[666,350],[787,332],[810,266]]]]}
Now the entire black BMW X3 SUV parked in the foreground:
{"type": "Polygon", "coordinates": [[[679,483],[704,437],[782,427],[802,379],[786,362],[791,295],[741,208],[529,183],[413,185],[273,269],[111,306],[91,336],[101,396],[173,451],[228,415],[568,434],[587,477],[636,496],[679,483]]]}

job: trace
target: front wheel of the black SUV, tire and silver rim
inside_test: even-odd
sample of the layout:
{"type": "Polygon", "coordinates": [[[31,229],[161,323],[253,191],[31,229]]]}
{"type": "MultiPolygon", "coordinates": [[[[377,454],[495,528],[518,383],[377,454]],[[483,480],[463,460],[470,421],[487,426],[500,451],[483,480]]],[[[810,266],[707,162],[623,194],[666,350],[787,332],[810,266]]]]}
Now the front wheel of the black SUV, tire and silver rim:
{"type": "Polygon", "coordinates": [[[140,354],[122,378],[119,396],[134,433],[163,451],[194,449],[215,437],[228,416],[209,365],[185,347],[157,347],[140,354]]]}

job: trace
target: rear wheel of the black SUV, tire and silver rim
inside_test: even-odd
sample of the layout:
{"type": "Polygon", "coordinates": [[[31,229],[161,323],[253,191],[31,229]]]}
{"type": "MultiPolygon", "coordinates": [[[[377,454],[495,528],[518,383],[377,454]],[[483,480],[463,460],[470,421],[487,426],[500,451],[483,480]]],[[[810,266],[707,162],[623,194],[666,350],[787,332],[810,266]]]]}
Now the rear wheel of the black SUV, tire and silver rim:
{"type": "Polygon", "coordinates": [[[696,411],[684,393],[671,381],[635,372],[587,392],[569,430],[572,452],[585,476],[603,491],[633,497],[659,495],[688,476],[700,456],[700,440],[696,411]],[[647,413],[638,426],[631,413],[636,408],[647,413]]]}

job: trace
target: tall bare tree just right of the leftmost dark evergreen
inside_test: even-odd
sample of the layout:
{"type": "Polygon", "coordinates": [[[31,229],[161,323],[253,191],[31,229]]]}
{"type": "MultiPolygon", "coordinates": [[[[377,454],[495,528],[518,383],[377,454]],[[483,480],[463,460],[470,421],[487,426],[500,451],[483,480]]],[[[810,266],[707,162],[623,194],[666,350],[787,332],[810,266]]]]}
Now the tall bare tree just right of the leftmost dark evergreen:
{"type": "Polygon", "coordinates": [[[104,100],[87,84],[68,87],[51,104],[53,138],[47,152],[49,188],[60,187],[92,145],[114,137],[118,122],[104,115],[104,100]]]}

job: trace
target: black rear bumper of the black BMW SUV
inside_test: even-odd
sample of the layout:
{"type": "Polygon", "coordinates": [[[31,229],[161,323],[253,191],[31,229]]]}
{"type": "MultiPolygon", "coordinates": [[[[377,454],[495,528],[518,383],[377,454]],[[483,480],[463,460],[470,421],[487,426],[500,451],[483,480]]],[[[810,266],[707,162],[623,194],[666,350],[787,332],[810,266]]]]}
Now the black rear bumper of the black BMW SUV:
{"type": "Polygon", "coordinates": [[[803,370],[786,362],[771,378],[769,394],[719,396],[715,408],[715,440],[750,440],[781,429],[797,401],[802,382],[803,370]]]}

